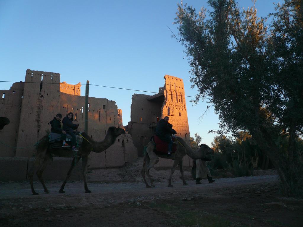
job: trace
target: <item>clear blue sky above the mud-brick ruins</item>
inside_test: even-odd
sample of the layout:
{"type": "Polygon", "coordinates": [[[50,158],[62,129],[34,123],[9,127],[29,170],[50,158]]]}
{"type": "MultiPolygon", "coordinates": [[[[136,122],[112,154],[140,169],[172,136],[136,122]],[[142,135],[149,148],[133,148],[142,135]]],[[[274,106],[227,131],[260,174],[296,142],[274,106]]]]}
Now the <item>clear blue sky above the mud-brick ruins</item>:
{"type": "MultiPolygon", "coordinates": [[[[239,0],[240,8],[252,5],[239,0]]],[[[273,0],[258,0],[258,16],[274,12],[273,0]]],[[[278,3],[279,1],[275,1],[278,3]]],[[[281,2],[281,0],[280,0],[281,2]]],[[[184,48],[171,38],[177,0],[77,1],[0,0],[0,80],[24,81],[26,69],[61,74],[61,82],[97,84],[158,92],[164,75],[180,77],[185,95],[191,89],[184,48]]],[[[183,1],[200,9],[206,0],[183,1]]],[[[8,90],[12,83],[0,82],[8,90]]],[[[152,94],[105,87],[89,87],[90,97],[115,100],[130,121],[132,94],[152,94]]],[[[85,86],[82,86],[85,95],[85,86]]],[[[218,117],[206,102],[192,106],[186,97],[191,136],[198,133],[209,146],[218,117]]]]}

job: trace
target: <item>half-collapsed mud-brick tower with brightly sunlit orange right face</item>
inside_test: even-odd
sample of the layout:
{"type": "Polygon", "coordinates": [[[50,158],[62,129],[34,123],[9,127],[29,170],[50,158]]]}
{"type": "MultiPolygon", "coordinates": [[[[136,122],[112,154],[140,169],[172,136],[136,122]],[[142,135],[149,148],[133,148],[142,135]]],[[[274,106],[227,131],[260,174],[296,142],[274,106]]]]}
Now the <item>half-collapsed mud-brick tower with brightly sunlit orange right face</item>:
{"type": "MultiPolygon", "coordinates": [[[[143,147],[154,134],[157,122],[165,116],[169,117],[169,123],[177,131],[177,136],[185,140],[190,138],[183,80],[169,75],[165,75],[164,79],[165,85],[159,88],[159,94],[132,96],[131,121],[128,123],[128,130],[138,149],[138,156],[143,156],[143,147]]],[[[169,163],[159,165],[162,164],[169,163]]]]}

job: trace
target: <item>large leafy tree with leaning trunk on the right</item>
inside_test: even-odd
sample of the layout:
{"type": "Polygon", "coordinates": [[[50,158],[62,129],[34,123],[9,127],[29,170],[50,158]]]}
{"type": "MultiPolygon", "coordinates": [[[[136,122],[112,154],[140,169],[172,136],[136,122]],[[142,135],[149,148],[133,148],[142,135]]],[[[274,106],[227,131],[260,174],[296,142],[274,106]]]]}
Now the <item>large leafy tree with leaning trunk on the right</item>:
{"type": "Polygon", "coordinates": [[[257,17],[235,0],[209,0],[206,10],[178,5],[175,24],[198,88],[194,103],[210,97],[220,119],[216,133],[247,131],[278,171],[285,195],[303,190],[296,140],[303,131],[303,1],[285,0],[257,17]],[[288,138],[287,146],[280,141],[288,138]]]}

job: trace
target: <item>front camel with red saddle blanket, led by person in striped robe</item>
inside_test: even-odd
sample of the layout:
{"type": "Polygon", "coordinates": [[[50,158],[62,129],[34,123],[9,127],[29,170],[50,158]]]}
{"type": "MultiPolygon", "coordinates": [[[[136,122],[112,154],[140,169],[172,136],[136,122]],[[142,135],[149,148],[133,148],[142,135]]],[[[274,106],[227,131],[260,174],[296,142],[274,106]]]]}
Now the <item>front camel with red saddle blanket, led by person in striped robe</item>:
{"type": "Polygon", "coordinates": [[[153,183],[153,179],[151,178],[150,174],[149,174],[149,170],[155,166],[155,164],[158,163],[159,161],[159,157],[160,158],[165,158],[165,159],[171,159],[174,160],[173,166],[171,167],[171,173],[170,173],[170,177],[168,179],[168,187],[173,187],[171,184],[171,177],[173,175],[173,173],[175,172],[175,169],[177,167],[177,165],[179,164],[179,168],[180,168],[180,173],[181,173],[181,177],[182,177],[182,181],[183,181],[183,185],[188,185],[184,179],[184,174],[183,174],[183,157],[185,155],[188,155],[189,157],[191,157],[192,159],[201,159],[201,158],[205,158],[206,155],[214,153],[214,151],[207,146],[206,144],[202,144],[200,145],[200,149],[199,150],[192,150],[190,148],[190,146],[187,145],[187,143],[185,143],[185,141],[181,138],[181,137],[176,137],[175,140],[175,145],[176,147],[176,152],[172,153],[171,156],[168,156],[167,154],[164,155],[157,155],[154,152],[154,142],[151,140],[149,141],[149,143],[147,144],[147,148],[146,148],[146,155],[144,156],[144,160],[143,160],[143,167],[141,170],[141,174],[143,177],[143,180],[145,182],[145,185],[147,188],[155,187],[154,183],[153,183]],[[147,174],[151,186],[148,185],[146,179],[145,179],[145,173],[147,174]]]}

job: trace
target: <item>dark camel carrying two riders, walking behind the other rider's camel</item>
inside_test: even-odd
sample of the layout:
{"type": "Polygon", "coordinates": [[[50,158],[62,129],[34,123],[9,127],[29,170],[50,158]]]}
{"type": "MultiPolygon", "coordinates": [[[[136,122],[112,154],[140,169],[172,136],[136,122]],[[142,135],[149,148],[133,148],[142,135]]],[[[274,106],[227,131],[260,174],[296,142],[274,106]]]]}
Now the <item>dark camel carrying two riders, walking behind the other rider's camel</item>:
{"type": "Polygon", "coordinates": [[[121,134],[125,134],[125,130],[121,128],[116,127],[109,127],[105,136],[105,139],[101,142],[96,142],[92,140],[86,133],[82,133],[82,136],[85,138],[83,139],[82,144],[79,147],[79,151],[77,152],[77,155],[74,156],[74,152],[71,150],[67,151],[66,149],[49,149],[49,142],[48,142],[48,136],[43,137],[38,144],[37,154],[34,166],[30,169],[28,176],[29,181],[32,188],[33,195],[38,195],[37,192],[35,192],[34,186],[33,186],[33,176],[35,169],[37,169],[36,174],[42,183],[42,186],[44,188],[44,192],[49,193],[48,189],[45,186],[44,180],[42,179],[42,173],[45,170],[47,164],[52,161],[52,156],[59,156],[59,157],[74,157],[72,160],[72,164],[70,169],[67,172],[67,176],[65,181],[63,182],[59,193],[65,193],[63,191],[64,186],[68,180],[68,178],[71,176],[72,170],[75,165],[78,164],[80,159],[82,158],[82,175],[84,179],[84,189],[85,193],[90,193],[91,191],[88,189],[87,186],[87,161],[88,161],[88,155],[92,152],[101,153],[102,151],[106,150],[108,147],[110,147],[113,143],[115,143],[115,140],[118,136],[121,134]]]}

